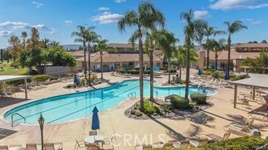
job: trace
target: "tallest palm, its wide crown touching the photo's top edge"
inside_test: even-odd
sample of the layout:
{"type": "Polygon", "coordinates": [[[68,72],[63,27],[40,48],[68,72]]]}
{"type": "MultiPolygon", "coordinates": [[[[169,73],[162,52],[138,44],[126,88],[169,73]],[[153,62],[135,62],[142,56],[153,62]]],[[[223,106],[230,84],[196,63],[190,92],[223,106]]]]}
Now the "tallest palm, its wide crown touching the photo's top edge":
{"type": "Polygon", "coordinates": [[[151,3],[142,2],[138,6],[138,10],[127,11],[118,22],[119,31],[126,31],[127,26],[135,26],[137,28],[137,37],[139,39],[139,62],[140,62],[140,110],[144,111],[143,101],[143,49],[142,49],[142,33],[151,31],[156,26],[164,24],[165,18],[162,12],[158,11],[151,3]]]}

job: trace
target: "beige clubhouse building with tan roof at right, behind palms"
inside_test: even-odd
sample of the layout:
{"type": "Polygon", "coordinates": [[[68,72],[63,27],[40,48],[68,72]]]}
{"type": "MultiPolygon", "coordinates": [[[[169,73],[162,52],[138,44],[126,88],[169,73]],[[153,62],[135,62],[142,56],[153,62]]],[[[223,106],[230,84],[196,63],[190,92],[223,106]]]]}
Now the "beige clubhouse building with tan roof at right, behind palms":
{"type": "MultiPolygon", "coordinates": [[[[230,61],[231,69],[234,72],[244,72],[245,67],[241,66],[242,60],[245,58],[257,58],[261,51],[268,51],[267,43],[246,43],[238,44],[231,47],[230,61]]],[[[202,68],[207,65],[207,51],[199,51],[198,67],[202,68]]],[[[209,66],[215,67],[215,52],[209,52],[209,66]]],[[[218,69],[225,71],[228,65],[228,51],[222,51],[218,56],[218,69]]]]}

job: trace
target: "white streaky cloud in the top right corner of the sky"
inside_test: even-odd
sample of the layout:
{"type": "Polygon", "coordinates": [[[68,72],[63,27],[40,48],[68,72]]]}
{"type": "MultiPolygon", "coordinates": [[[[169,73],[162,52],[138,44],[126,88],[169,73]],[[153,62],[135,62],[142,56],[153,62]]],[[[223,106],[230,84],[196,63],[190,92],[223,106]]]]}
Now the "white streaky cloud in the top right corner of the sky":
{"type": "Polygon", "coordinates": [[[260,0],[218,0],[216,3],[211,4],[209,8],[214,10],[241,10],[241,9],[258,9],[268,7],[268,3],[258,3],[260,0]]]}

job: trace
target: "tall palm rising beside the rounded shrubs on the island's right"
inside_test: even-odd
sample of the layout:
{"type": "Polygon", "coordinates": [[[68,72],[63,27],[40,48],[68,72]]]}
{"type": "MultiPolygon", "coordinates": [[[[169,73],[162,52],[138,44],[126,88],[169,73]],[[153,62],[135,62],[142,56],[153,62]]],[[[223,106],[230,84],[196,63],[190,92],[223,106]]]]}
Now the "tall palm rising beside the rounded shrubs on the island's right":
{"type": "Polygon", "coordinates": [[[181,12],[181,20],[186,21],[186,26],[184,26],[184,41],[186,44],[186,87],[185,87],[185,99],[188,99],[189,94],[189,80],[190,80],[190,51],[194,40],[198,40],[199,34],[199,22],[198,19],[193,19],[193,10],[189,12],[181,12]]]}

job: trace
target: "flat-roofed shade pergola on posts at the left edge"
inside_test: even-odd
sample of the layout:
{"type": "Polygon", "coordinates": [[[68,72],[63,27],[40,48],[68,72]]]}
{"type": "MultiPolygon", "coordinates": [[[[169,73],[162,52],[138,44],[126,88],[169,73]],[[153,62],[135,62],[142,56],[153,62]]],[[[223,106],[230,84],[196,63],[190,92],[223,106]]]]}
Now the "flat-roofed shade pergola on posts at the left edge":
{"type": "Polygon", "coordinates": [[[28,98],[27,95],[27,78],[31,76],[0,76],[0,83],[1,83],[1,89],[3,93],[3,83],[7,81],[18,81],[18,80],[24,80],[24,89],[25,89],[25,99],[28,98]]]}

